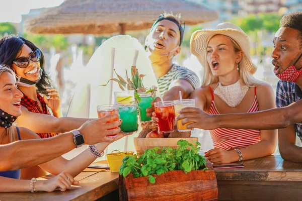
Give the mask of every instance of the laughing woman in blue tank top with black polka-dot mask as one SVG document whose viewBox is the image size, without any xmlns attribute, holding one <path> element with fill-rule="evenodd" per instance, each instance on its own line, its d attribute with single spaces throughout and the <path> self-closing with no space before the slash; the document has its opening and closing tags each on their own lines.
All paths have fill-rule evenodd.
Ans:
<svg viewBox="0 0 302 201">
<path fill-rule="evenodd" d="M 34 62 L 30 60 L 29 67 L 32 65 L 34 65 Z M 13 125 L 16 119 L 22 114 L 20 102 L 23 94 L 16 86 L 14 72 L 10 68 L 0 65 L 0 146 L 9 143 L 18 143 L 19 140 L 39 139 L 39 136 L 32 131 Z M 124 135 L 119 134 L 116 140 L 122 136 Z M 44 164 L 40 164 L 39 166 L 45 171 L 57 175 L 49 180 L 37 180 L 36 178 L 32 178 L 31 180 L 19 179 L 20 169 L 2 171 L 0 172 L 0 192 L 51 192 L 56 188 L 64 191 L 72 184 L 79 184 L 73 177 L 81 173 L 96 157 L 103 156 L 103 151 L 109 144 L 104 142 L 91 145 L 71 160 L 66 160 L 60 156 Z M 28 153 L 28 157 L 31 157 L 31 153 Z"/>
</svg>

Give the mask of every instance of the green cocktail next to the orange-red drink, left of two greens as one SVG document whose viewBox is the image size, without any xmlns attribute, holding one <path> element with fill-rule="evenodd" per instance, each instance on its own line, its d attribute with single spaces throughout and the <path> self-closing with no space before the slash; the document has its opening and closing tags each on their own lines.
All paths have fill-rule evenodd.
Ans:
<svg viewBox="0 0 302 201">
<path fill-rule="evenodd" d="M 122 120 L 121 131 L 131 133 L 137 131 L 137 105 L 136 102 L 119 105 L 119 115 Z"/>
</svg>

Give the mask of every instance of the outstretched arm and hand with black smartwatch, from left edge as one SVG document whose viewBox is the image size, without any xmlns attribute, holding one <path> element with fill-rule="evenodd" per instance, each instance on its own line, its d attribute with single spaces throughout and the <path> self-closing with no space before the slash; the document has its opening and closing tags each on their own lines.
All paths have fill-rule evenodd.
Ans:
<svg viewBox="0 0 302 201">
<path fill-rule="evenodd" d="M 121 122 L 109 122 L 118 115 L 109 115 L 104 118 L 86 122 L 79 128 L 84 135 L 85 144 L 97 144 L 100 142 L 113 142 L 114 139 L 107 135 L 119 133 Z M 32 167 L 50 161 L 75 148 L 72 133 L 61 134 L 47 139 L 21 140 L 0 146 L 0 171 L 17 170 Z M 36 151 L 39 150 L 39 151 Z"/>
</svg>

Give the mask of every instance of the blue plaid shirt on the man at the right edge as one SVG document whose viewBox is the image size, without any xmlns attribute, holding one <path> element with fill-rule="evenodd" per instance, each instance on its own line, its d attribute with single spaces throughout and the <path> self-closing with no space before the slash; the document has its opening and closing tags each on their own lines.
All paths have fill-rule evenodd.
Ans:
<svg viewBox="0 0 302 201">
<path fill-rule="evenodd" d="M 276 106 L 282 108 L 302 98 L 302 91 L 294 82 L 279 80 L 276 90 Z M 302 122 L 294 125 L 297 136 L 302 141 Z"/>
</svg>

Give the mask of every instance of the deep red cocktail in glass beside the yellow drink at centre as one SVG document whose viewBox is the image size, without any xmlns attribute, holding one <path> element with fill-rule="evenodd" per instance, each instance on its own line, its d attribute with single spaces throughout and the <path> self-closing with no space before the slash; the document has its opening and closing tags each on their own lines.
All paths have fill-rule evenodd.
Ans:
<svg viewBox="0 0 302 201">
<path fill-rule="evenodd" d="M 155 102 L 155 114 L 159 119 L 159 132 L 169 133 L 174 130 L 174 103 L 173 101 Z"/>
</svg>

